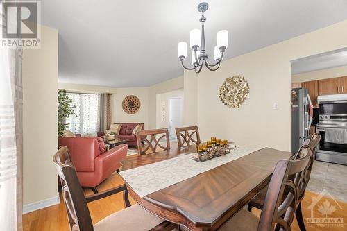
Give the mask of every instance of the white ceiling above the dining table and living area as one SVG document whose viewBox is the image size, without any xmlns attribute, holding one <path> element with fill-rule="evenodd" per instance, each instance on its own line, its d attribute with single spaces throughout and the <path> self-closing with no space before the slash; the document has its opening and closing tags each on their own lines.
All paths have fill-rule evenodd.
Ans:
<svg viewBox="0 0 347 231">
<path fill-rule="evenodd" d="M 139 87 L 183 74 L 177 43 L 199 28 L 187 0 L 45 0 L 42 24 L 59 30 L 59 80 Z M 347 19 L 346 0 L 210 0 L 205 13 L 210 57 L 216 33 L 229 31 L 226 58 Z M 187 58 L 187 61 L 190 57 Z"/>
</svg>

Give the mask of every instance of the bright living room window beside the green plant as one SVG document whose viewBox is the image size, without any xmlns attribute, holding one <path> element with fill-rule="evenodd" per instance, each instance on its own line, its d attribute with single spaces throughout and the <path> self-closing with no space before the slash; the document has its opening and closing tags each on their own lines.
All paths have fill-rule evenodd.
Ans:
<svg viewBox="0 0 347 231">
<path fill-rule="evenodd" d="M 69 130 L 81 135 L 96 135 L 99 132 L 99 94 L 69 93 L 76 103 L 75 115 L 67 119 Z"/>
</svg>

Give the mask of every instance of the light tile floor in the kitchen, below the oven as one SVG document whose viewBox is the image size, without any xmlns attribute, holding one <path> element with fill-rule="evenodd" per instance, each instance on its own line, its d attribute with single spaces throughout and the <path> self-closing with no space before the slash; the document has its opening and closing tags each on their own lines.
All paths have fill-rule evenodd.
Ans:
<svg viewBox="0 0 347 231">
<path fill-rule="evenodd" d="M 333 198 L 347 202 L 347 166 L 314 161 L 307 190 L 320 194 L 323 189 Z"/>
</svg>

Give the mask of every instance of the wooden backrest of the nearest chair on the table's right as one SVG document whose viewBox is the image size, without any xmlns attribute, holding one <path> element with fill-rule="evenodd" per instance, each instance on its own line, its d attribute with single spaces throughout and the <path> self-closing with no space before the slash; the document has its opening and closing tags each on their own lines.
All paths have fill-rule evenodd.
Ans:
<svg viewBox="0 0 347 231">
<path fill-rule="evenodd" d="M 311 150 L 301 146 L 298 158 L 280 160 L 269 184 L 260 215 L 258 231 L 290 230 L 305 169 L 310 165 Z"/>
</svg>

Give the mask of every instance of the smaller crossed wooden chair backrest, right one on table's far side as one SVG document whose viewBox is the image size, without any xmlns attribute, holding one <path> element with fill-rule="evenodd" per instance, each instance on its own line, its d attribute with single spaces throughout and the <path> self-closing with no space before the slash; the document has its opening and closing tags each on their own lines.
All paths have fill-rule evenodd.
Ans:
<svg viewBox="0 0 347 231">
<path fill-rule="evenodd" d="M 176 128 L 176 136 L 178 141 L 178 148 L 185 145 L 189 146 L 191 145 L 191 143 L 200 144 L 200 135 L 198 134 L 198 126 Z"/>
</svg>

